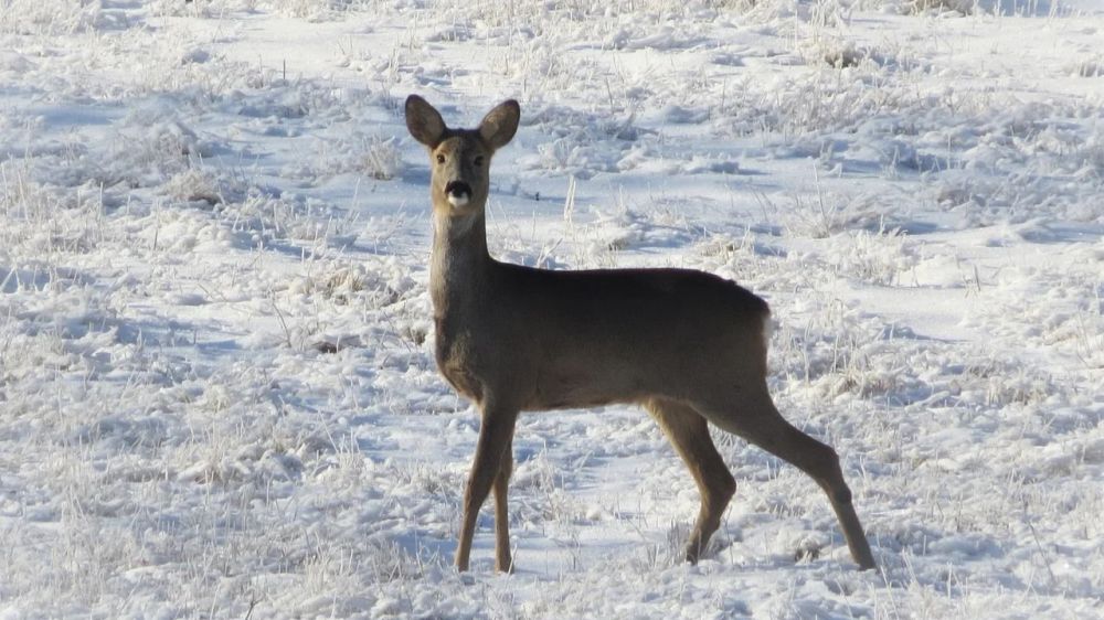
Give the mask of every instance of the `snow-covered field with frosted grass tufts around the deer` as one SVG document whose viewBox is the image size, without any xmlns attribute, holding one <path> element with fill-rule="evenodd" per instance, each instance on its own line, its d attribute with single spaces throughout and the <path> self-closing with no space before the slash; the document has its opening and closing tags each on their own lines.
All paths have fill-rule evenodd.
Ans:
<svg viewBox="0 0 1104 620">
<path fill-rule="evenodd" d="M 493 571 L 402 103 L 508 97 L 489 237 L 735 279 L 793 467 L 522 416 Z M 0 0 L 0 618 L 1104 617 L 1104 2 Z"/>
</svg>

